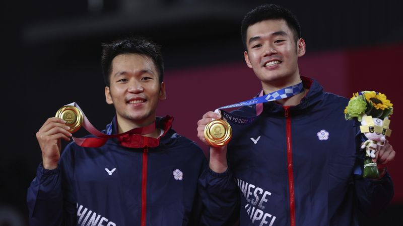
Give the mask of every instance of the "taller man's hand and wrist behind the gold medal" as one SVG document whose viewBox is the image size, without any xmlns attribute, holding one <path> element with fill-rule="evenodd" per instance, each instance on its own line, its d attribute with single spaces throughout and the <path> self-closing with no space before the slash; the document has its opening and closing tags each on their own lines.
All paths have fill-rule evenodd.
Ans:
<svg viewBox="0 0 403 226">
<path fill-rule="evenodd" d="M 197 122 L 197 137 L 203 143 L 209 145 L 205 138 L 205 128 L 212 120 L 221 119 L 221 115 L 213 111 L 209 111 L 203 115 L 203 118 Z M 210 147 L 210 169 L 216 173 L 225 172 L 227 165 L 227 145 L 222 147 Z"/>
</svg>

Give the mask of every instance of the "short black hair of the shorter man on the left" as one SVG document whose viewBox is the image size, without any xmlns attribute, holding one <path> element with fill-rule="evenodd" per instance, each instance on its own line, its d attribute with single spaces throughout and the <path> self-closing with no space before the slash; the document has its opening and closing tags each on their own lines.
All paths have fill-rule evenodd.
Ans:
<svg viewBox="0 0 403 226">
<path fill-rule="evenodd" d="M 158 71 L 159 82 L 164 79 L 164 60 L 161 54 L 161 46 L 143 38 L 130 36 L 121 40 L 114 41 L 110 44 L 102 44 L 102 74 L 105 85 L 110 85 L 110 73 L 112 72 L 112 60 L 117 55 L 134 53 L 145 55 L 153 60 L 153 63 Z"/>
</svg>

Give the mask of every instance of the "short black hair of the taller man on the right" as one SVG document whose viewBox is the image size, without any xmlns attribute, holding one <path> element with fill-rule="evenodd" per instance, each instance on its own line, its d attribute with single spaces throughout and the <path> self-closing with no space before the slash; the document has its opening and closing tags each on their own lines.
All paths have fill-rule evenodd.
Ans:
<svg viewBox="0 0 403 226">
<path fill-rule="evenodd" d="M 297 42 L 297 40 L 301 38 L 301 27 L 299 25 L 297 17 L 291 11 L 284 7 L 274 4 L 267 4 L 258 6 L 255 9 L 249 11 L 242 20 L 241 36 L 245 50 L 247 50 L 246 31 L 248 30 L 249 26 L 265 20 L 281 19 L 285 20 L 288 27 L 294 32 L 294 39 L 295 42 Z"/>
</svg>

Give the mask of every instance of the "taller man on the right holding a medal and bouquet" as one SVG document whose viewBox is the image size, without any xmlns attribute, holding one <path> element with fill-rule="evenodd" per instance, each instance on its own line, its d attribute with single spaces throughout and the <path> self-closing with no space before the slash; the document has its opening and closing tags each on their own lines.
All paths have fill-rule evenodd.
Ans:
<svg viewBox="0 0 403 226">
<path fill-rule="evenodd" d="M 345 120 L 348 99 L 300 76 L 305 41 L 290 11 L 257 7 L 241 33 L 246 64 L 262 90 L 220 108 L 241 106 L 233 112 L 209 111 L 197 122 L 199 139 L 210 145 L 210 168 L 233 173 L 240 225 L 346 226 L 375 216 L 393 197 L 386 170 L 393 148 L 378 146 L 379 177 L 362 177 L 364 140 L 359 126 Z M 217 121 L 222 117 L 229 125 Z"/>
</svg>

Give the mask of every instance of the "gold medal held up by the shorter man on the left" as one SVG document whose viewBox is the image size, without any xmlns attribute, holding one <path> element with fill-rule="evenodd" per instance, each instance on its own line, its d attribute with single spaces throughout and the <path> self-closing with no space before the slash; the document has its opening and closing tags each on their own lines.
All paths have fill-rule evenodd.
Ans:
<svg viewBox="0 0 403 226">
<path fill-rule="evenodd" d="M 66 105 L 60 107 L 56 112 L 56 117 L 66 122 L 66 126 L 70 127 L 70 133 L 78 131 L 83 124 L 83 114 L 75 106 Z"/>
</svg>

